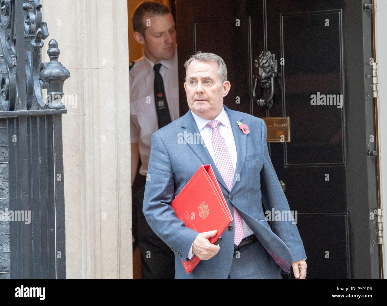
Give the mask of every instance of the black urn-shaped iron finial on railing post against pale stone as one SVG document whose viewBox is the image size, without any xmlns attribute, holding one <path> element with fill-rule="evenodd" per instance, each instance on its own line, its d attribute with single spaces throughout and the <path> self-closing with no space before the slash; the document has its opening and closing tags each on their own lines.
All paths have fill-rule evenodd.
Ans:
<svg viewBox="0 0 387 306">
<path fill-rule="evenodd" d="M 55 39 L 48 43 L 48 56 L 50 62 L 47 65 L 41 65 L 40 78 L 47 84 L 48 109 L 63 109 L 65 105 L 61 103 L 63 93 L 63 83 L 70 77 L 70 72 L 58 61 L 60 50 Z"/>
</svg>

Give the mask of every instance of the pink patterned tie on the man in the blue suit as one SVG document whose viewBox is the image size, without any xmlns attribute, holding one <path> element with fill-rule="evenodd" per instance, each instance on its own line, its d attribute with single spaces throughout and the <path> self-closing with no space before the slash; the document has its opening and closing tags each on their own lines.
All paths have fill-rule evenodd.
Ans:
<svg viewBox="0 0 387 306">
<path fill-rule="evenodd" d="M 212 148 L 214 149 L 216 168 L 226 183 L 228 190 L 231 191 L 234 180 L 234 167 L 228 153 L 226 141 L 224 141 L 224 138 L 219 133 L 219 125 L 220 121 L 217 120 L 211 120 L 207 123 L 207 126 L 212 129 Z M 235 207 L 233 208 L 235 226 L 234 243 L 239 245 L 244 236 L 243 223 L 240 214 L 236 211 Z"/>
</svg>

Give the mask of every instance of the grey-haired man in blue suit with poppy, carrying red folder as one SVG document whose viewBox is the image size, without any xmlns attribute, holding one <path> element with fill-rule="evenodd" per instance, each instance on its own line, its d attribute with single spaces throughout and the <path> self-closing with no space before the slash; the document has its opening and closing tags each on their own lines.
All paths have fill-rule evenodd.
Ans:
<svg viewBox="0 0 387 306">
<path fill-rule="evenodd" d="M 281 279 L 290 266 L 304 279 L 307 257 L 294 219 L 269 225 L 262 209 L 263 202 L 267 211 L 290 211 L 264 121 L 223 105 L 231 85 L 221 57 L 198 52 L 185 68 L 190 110 L 152 134 L 143 207 L 149 226 L 175 253 L 175 279 Z M 170 206 L 202 164 L 211 164 L 234 219 L 219 245 L 208 240 L 216 230 L 187 228 Z M 201 260 L 187 274 L 180 259 L 194 254 Z"/>
</svg>

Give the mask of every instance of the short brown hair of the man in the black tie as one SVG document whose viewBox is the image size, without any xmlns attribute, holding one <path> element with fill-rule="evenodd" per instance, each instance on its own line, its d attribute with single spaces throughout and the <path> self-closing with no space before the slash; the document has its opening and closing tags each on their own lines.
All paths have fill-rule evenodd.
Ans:
<svg viewBox="0 0 387 306">
<path fill-rule="evenodd" d="M 164 16 L 169 14 L 171 10 L 166 7 L 164 4 L 154 2 L 154 1 L 144 1 L 137 5 L 133 15 L 132 15 L 132 24 L 133 30 L 139 32 L 145 38 L 146 26 L 142 22 L 142 17 L 144 15 L 149 16 Z"/>
</svg>

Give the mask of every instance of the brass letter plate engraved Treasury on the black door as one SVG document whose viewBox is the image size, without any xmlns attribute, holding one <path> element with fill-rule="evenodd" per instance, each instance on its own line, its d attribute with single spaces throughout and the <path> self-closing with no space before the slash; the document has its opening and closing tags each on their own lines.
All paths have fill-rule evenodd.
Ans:
<svg viewBox="0 0 387 306">
<path fill-rule="evenodd" d="M 289 117 L 265 117 L 261 119 L 266 123 L 267 143 L 290 142 Z"/>
</svg>

